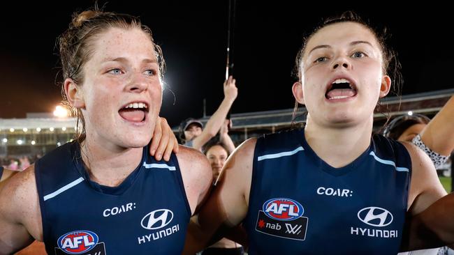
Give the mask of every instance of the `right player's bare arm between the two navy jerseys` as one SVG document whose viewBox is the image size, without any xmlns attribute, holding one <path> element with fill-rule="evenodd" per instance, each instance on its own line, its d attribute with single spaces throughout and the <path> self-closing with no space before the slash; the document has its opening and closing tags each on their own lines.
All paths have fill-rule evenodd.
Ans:
<svg viewBox="0 0 454 255">
<path fill-rule="evenodd" d="M 256 139 L 249 139 L 228 157 L 217 186 L 200 210 L 198 223 L 189 226 L 183 254 L 216 242 L 246 217 L 255 145 Z"/>
</svg>

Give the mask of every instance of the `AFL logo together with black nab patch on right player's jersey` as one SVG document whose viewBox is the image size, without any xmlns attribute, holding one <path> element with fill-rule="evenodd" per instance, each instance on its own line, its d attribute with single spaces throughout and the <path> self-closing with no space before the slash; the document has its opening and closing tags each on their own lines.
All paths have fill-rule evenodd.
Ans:
<svg viewBox="0 0 454 255">
<path fill-rule="evenodd" d="M 293 199 L 270 199 L 258 211 L 256 231 L 279 238 L 305 240 L 307 217 L 304 208 Z"/>
</svg>

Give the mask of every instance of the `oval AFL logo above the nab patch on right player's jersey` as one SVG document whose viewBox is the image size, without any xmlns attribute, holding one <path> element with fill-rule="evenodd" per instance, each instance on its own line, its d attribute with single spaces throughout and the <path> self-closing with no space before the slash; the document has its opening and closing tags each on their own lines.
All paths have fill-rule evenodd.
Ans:
<svg viewBox="0 0 454 255">
<path fill-rule="evenodd" d="M 263 203 L 263 212 L 272 219 L 289 221 L 301 217 L 305 210 L 293 199 L 270 199 Z"/>
</svg>

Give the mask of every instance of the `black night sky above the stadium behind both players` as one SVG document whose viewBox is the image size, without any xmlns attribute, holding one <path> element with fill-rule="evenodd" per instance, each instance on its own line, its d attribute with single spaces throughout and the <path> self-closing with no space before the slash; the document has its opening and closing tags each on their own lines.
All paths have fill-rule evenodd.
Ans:
<svg viewBox="0 0 454 255">
<path fill-rule="evenodd" d="M 239 95 L 232 113 L 292 108 L 292 70 L 302 37 L 323 17 L 344 10 L 355 10 L 372 24 L 387 27 L 402 63 L 402 94 L 454 87 L 454 22 L 447 3 L 404 3 L 407 6 L 398 8 L 396 1 L 236 2 L 233 72 Z M 93 1 L 11 4 L 2 6 L 0 17 L 0 118 L 53 111 L 61 101 L 55 40 L 71 21 L 71 13 L 93 6 Z M 207 114 L 214 112 L 224 97 L 228 0 L 110 1 L 105 10 L 140 16 L 163 48 L 167 89 L 161 116 L 171 125 L 200 117 L 203 98 Z"/>
</svg>

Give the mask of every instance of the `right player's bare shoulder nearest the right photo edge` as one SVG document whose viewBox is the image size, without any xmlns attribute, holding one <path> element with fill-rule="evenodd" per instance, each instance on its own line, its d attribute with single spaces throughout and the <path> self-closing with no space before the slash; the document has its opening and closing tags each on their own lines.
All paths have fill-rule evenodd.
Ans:
<svg viewBox="0 0 454 255">
<path fill-rule="evenodd" d="M 409 191 L 409 211 L 417 214 L 434 201 L 446 195 L 430 157 L 414 144 L 402 142 L 411 157 L 411 185 Z"/>
</svg>

